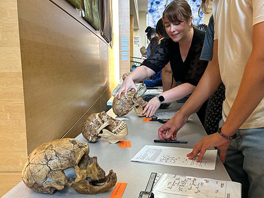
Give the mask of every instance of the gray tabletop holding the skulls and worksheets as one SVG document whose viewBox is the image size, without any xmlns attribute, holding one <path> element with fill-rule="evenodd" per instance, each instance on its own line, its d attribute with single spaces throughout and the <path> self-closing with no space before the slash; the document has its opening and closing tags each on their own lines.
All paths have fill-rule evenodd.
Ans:
<svg viewBox="0 0 264 198">
<path fill-rule="evenodd" d="M 179 110 L 181 105 L 181 103 L 172 103 L 168 109 L 158 109 L 157 112 L 176 112 Z M 109 113 L 111 115 L 111 111 L 109 111 Z M 112 169 L 117 175 L 117 182 L 127 183 L 127 187 L 122 198 L 138 198 L 140 191 L 145 190 L 152 172 L 228 181 L 231 180 L 219 157 L 217 157 L 215 170 L 203 170 L 130 161 L 145 145 L 193 148 L 193 146 L 202 137 L 206 136 L 206 133 L 196 114 L 190 116 L 187 123 L 177 134 L 177 139 L 186 140 L 189 142 L 187 144 L 154 143 L 153 140 L 158 139 L 157 129 L 162 126 L 161 123 L 157 121 L 142 121 L 144 118 L 137 117 L 133 110 L 126 118 L 128 118 L 125 122 L 128 125 L 129 134 L 122 140 L 131 141 L 131 148 L 119 148 L 118 143 L 110 144 L 105 139 L 100 139 L 96 143 L 89 143 L 89 156 L 98 157 L 98 164 L 104 169 L 106 174 L 108 174 L 110 169 Z M 87 142 L 87 140 L 83 138 L 82 134 L 77 136 L 76 139 L 81 142 Z M 34 192 L 27 188 L 21 181 L 2 198 L 110 198 L 113 189 L 114 187 L 97 195 L 84 195 L 75 192 L 72 188 L 66 187 L 61 191 L 55 191 L 54 194 L 49 195 Z"/>
</svg>

